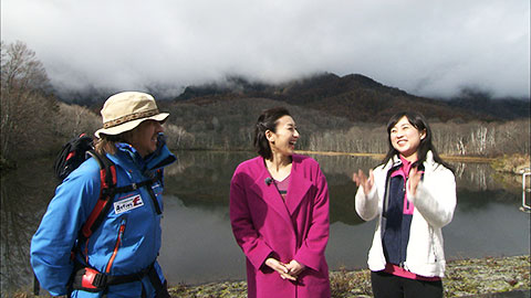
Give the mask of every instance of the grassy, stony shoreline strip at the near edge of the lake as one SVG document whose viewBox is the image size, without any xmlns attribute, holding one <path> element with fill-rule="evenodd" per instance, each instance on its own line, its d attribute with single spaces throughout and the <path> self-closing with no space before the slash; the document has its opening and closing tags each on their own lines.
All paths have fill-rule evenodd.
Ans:
<svg viewBox="0 0 531 298">
<path fill-rule="evenodd" d="M 449 260 L 442 278 L 445 297 L 479 297 L 512 291 L 530 291 L 531 256 L 485 257 Z M 368 269 L 330 272 L 333 298 L 372 297 Z M 197 286 L 177 285 L 169 289 L 180 298 L 244 298 L 247 283 L 220 281 Z M 487 296 L 488 297 L 488 296 Z"/>
</svg>

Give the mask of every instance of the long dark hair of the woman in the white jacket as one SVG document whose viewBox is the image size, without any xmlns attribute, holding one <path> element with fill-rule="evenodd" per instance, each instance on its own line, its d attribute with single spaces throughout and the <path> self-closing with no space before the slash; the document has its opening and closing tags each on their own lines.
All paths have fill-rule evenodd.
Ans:
<svg viewBox="0 0 531 298">
<path fill-rule="evenodd" d="M 431 151 L 431 153 L 434 155 L 434 160 L 436 162 L 445 166 L 450 171 L 454 171 L 454 169 L 448 163 L 442 161 L 442 159 L 437 153 L 437 150 L 435 150 L 435 147 L 431 142 L 431 128 L 429 128 L 428 121 L 426 121 L 426 118 L 423 114 L 416 111 L 400 111 L 391 117 L 389 121 L 387 123 L 387 142 L 389 146 L 389 150 L 387 151 L 387 155 L 384 157 L 382 162 L 385 164 L 389 161 L 391 158 L 393 158 L 393 156 L 399 153 L 391 142 L 391 130 L 402 119 L 402 117 L 406 117 L 409 124 L 412 124 L 418 131 L 426 131 L 426 136 L 424 137 L 424 139 L 420 140 L 420 143 L 418 145 L 417 161 L 414 163 L 414 166 L 419 166 L 424 161 L 426 161 L 426 155 L 428 153 L 428 151 Z"/>
</svg>

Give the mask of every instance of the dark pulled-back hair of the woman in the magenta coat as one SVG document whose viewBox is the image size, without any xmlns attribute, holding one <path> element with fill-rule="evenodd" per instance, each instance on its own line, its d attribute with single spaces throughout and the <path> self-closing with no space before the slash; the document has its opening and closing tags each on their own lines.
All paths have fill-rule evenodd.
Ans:
<svg viewBox="0 0 531 298">
<path fill-rule="evenodd" d="M 260 117 L 258 117 L 257 125 L 254 126 L 253 143 L 258 153 L 264 159 L 271 159 L 273 157 L 268 138 L 266 138 L 266 131 L 271 130 L 272 132 L 277 132 L 277 121 L 283 116 L 291 116 L 291 114 L 284 107 L 274 107 L 263 110 Z"/>
</svg>

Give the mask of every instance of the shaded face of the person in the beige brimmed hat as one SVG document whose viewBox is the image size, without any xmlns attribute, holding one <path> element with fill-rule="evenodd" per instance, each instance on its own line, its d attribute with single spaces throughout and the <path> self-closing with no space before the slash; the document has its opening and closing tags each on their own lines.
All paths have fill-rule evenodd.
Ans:
<svg viewBox="0 0 531 298">
<path fill-rule="evenodd" d="M 142 157 L 146 157 L 157 149 L 157 137 L 159 132 L 164 132 L 164 128 L 159 121 L 145 120 L 132 131 L 128 142 Z"/>
</svg>

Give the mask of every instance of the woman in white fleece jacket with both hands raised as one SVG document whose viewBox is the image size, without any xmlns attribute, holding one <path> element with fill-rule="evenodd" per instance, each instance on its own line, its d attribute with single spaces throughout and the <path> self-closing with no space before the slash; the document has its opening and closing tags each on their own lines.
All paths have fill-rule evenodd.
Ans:
<svg viewBox="0 0 531 298">
<path fill-rule="evenodd" d="M 368 178 L 353 174 L 357 214 L 378 219 L 368 252 L 374 297 L 442 297 L 441 227 L 457 203 L 454 172 L 437 155 L 423 115 L 394 115 L 387 134 L 382 164 Z"/>
</svg>

